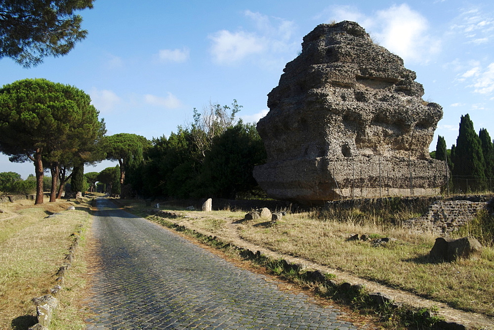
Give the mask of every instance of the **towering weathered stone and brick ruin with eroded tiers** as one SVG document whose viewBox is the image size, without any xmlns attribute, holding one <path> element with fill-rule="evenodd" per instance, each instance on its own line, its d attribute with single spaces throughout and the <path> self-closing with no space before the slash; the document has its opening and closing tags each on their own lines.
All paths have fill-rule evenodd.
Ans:
<svg viewBox="0 0 494 330">
<path fill-rule="evenodd" d="M 428 147 L 443 111 L 415 78 L 357 23 L 317 26 L 268 94 L 255 179 L 303 204 L 439 192 L 446 167 Z"/>
</svg>

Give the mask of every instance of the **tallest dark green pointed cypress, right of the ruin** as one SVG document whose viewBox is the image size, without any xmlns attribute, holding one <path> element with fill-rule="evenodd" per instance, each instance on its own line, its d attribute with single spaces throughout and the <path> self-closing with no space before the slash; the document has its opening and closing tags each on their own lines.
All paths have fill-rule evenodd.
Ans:
<svg viewBox="0 0 494 330">
<path fill-rule="evenodd" d="M 461 116 L 453 159 L 454 184 L 461 191 L 485 188 L 485 161 L 479 135 L 470 116 Z"/>
</svg>

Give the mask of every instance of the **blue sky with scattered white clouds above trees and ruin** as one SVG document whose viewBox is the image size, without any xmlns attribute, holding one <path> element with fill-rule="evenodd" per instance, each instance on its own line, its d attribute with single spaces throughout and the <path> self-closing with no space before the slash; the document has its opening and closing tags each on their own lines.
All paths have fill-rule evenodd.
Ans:
<svg viewBox="0 0 494 330">
<path fill-rule="evenodd" d="M 318 24 L 352 20 L 417 73 L 428 101 L 443 107 L 437 135 L 456 142 L 461 115 L 494 137 L 493 1 L 96 0 L 79 12 L 88 37 L 68 55 L 24 69 L 0 60 L 0 85 L 45 78 L 81 88 L 108 135 L 168 136 L 210 102 L 243 106 L 245 121 L 267 111 L 267 94 Z M 100 171 L 115 164 L 86 166 Z M 24 178 L 32 163 L 0 172 Z"/>
</svg>

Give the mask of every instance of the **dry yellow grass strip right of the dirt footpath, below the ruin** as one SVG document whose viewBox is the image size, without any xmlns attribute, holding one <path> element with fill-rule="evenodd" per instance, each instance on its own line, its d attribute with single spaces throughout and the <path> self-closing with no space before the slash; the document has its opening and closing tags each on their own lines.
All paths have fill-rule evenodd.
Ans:
<svg viewBox="0 0 494 330">
<path fill-rule="evenodd" d="M 239 225 L 242 238 L 270 249 L 301 256 L 359 277 L 443 301 L 453 307 L 494 315 L 494 250 L 478 261 L 433 262 L 428 253 L 437 236 L 354 221 L 321 221 L 308 214 L 288 215 L 274 226 L 265 220 Z M 373 247 L 348 241 L 351 234 L 397 241 Z"/>
</svg>

